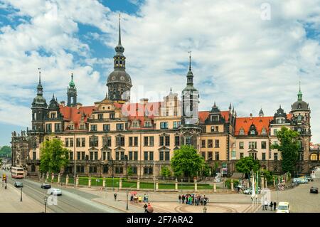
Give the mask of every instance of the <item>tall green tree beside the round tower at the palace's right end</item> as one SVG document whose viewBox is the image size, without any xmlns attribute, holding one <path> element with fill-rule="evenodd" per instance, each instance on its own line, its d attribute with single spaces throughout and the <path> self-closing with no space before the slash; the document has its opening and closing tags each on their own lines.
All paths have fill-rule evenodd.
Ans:
<svg viewBox="0 0 320 227">
<path fill-rule="evenodd" d="M 282 172 L 293 173 L 294 167 L 298 161 L 299 155 L 299 132 L 288 129 L 287 127 L 282 127 L 281 130 L 277 132 L 277 138 L 279 139 L 279 144 L 272 144 L 272 149 L 278 149 L 282 156 Z"/>
</svg>

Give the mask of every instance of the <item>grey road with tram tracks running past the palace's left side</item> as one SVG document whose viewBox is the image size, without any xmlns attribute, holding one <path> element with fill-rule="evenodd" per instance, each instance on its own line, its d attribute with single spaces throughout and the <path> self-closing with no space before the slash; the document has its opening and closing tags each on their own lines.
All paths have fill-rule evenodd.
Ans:
<svg viewBox="0 0 320 227">
<path fill-rule="evenodd" d="M 15 181 L 23 182 L 23 193 L 29 196 L 39 204 L 43 204 L 44 211 L 44 197 L 48 196 L 47 189 L 41 189 L 40 183 L 31 181 L 29 179 L 11 179 L 11 175 L 8 171 L 5 172 L 9 175 L 8 184 L 14 185 Z M 92 194 L 78 191 L 77 189 L 66 189 L 64 187 L 54 186 L 60 188 L 63 191 L 62 196 L 58 196 L 58 204 L 47 206 L 48 212 L 58 213 L 119 213 L 122 212 L 117 208 L 111 208 L 110 206 L 98 204 L 92 199 L 96 198 Z"/>
</svg>

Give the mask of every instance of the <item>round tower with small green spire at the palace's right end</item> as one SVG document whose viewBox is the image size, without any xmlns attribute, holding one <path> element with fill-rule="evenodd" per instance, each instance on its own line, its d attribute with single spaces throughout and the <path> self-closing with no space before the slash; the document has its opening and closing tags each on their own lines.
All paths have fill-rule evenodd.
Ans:
<svg viewBox="0 0 320 227">
<path fill-rule="evenodd" d="M 310 129 L 310 107 L 302 100 L 301 86 L 299 85 L 298 100 L 292 104 L 292 130 L 299 132 L 300 151 L 299 161 L 309 160 L 309 149 L 311 140 Z"/>
</svg>

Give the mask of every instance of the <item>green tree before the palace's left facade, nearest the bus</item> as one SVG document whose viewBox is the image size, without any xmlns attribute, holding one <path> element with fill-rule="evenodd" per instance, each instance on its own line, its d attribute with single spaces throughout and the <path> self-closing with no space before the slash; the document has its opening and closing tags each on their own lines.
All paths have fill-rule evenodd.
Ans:
<svg viewBox="0 0 320 227">
<path fill-rule="evenodd" d="M 43 142 L 41 147 L 41 172 L 59 173 L 61 167 L 68 165 L 68 149 L 63 147 L 63 142 L 60 139 L 50 139 Z"/>
</svg>

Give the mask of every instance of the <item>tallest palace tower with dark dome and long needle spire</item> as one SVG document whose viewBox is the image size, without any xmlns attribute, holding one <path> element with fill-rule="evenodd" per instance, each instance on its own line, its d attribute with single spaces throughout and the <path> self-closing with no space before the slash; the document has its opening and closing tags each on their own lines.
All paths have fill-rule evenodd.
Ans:
<svg viewBox="0 0 320 227">
<path fill-rule="evenodd" d="M 126 72 L 126 57 L 124 47 L 121 44 L 121 28 L 119 19 L 119 40 L 114 48 L 116 54 L 113 57 L 114 70 L 107 78 L 108 97 L 113 101 L 127 102 L 130 100 L 130 88 L 132 82 L 130 75 Z"/>
</svg>

